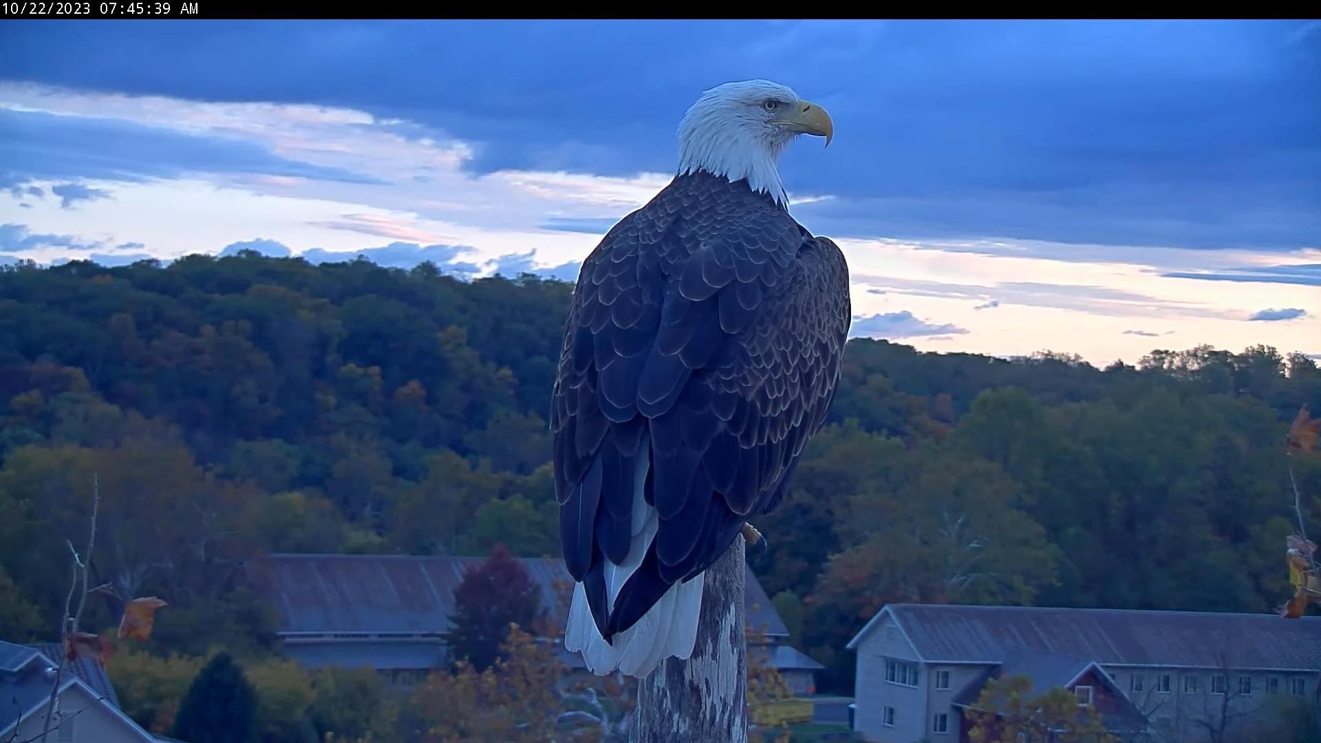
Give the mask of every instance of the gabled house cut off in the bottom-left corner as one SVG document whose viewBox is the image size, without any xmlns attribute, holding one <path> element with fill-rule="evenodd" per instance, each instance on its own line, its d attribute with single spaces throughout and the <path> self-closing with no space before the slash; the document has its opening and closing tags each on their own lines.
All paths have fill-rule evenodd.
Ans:
<svg viewBox="0 0 1321 743">
<path fill-rule="evenodd" d="M 59 645 L 38 648 L 0 641 L 0 740 L 40 738 L 45 727 L 58 666 L 50 653 Z M 119 711 L 104 669 L 87 658 L 70 664 L 61 674 L 52 731 L 50 740 L 59 743 L 160 740 Z"/>
</svg>

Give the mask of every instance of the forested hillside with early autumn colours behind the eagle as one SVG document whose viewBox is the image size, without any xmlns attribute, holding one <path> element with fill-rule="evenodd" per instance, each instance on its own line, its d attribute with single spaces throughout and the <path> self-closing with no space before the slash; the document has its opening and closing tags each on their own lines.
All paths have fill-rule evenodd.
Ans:
<svg viewBox="0 0 1321 743">
<path fill-rule="evenodd" d="M 263 551 L 557 554 L 546 416 L 571 288 L 256 254 L 0 270 L 5 639 L 53 636 L 94 473 L 92 582 L 169 602 L 157 650 L 267 646 L 244 587 Z M 1292 595 L 1284 436 L 1321 409 L 1308 357 L 1096 369 L 855 340 L 845 361 L 790 497 L 754 520 L 754 568 L 824 689 L 851 686 L 844 644 L 885 602 Z M 118 609 L 92 600 L 89 624 Z"/>
</svg>

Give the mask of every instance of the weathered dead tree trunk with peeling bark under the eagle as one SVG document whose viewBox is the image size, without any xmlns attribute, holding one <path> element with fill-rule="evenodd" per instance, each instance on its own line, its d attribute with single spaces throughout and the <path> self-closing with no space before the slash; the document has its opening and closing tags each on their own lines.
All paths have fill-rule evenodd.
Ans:
<svg viewBox="0 0 1321 743">
<path fill-rule="evenodd" d="M 746 743 L 744 570 L 740 534 L 707 570 L 692 657 L 666 658 L 651 676 L 638 681 L 630 740 Z"/>
</svg>

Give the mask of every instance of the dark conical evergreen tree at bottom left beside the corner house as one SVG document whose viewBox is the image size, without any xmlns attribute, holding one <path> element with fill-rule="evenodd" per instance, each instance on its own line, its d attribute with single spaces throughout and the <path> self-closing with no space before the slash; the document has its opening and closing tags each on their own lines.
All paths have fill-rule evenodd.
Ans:
<svg viewBox="0 0 1321 743">
<path fill-rule="evenodd" d="M 256 743 L 256 691 L 229 653 L 210 660 L 188 687 L 172 736 L 189 743 Z"/>
</svg>

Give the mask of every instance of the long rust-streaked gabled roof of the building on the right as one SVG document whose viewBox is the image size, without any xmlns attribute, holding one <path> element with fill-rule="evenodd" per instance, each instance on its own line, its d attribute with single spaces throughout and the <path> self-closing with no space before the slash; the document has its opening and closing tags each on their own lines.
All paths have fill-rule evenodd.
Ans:
<svg viewBox="0 0 1321 743">
<path fill-rule="evenodd" d="M 1321 617 L 1137 609 L 888 604 L 926 662 L 1001 664 L 1011 648 L 1102 665 L 1321 672 Z"/>
</svg>

